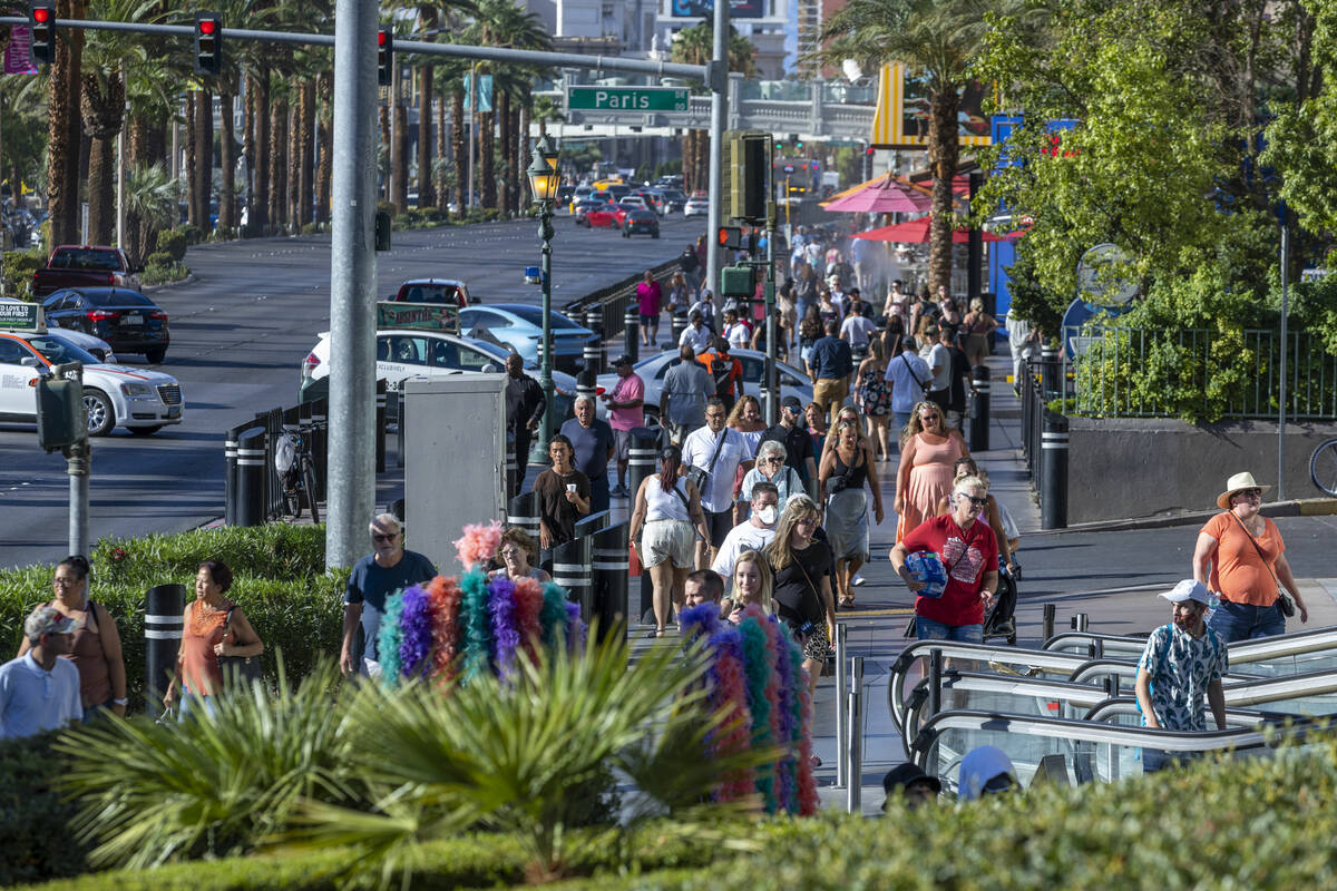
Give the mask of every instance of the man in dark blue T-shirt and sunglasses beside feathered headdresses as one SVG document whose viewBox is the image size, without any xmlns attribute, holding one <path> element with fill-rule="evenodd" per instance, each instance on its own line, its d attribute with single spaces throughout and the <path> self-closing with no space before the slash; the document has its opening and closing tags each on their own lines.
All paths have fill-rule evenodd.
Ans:
<svg viewBox="0 0 1337 891">
<path fill-rule="evenodd" d="M 368 676 L 377 667 L 376 635 L 381 629 L 385 598 L 401 588 L 436 577 L 436 566 L 425 556 L 404 549 L 404 534 L 393 513 L 372 520 L 372 553 L 353 565 L 344 592 L 344 649 L 340 668 L 345 675 Z M 354 639 L 361 624 L 366 644 L 361 656 L 354 653 Z"/>
</svg>

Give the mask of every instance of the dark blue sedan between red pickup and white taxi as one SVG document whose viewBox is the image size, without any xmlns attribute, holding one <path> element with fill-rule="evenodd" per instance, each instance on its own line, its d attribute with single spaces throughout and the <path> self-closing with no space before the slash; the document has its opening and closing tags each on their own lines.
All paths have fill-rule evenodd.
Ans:
<svg viewBox="0 0 1337 891">
<path fill-rule="evenodd" d="M 100 337 L 115 353 L 143 353 L 152 363 L 167 355 L 167 314 L 124 287 L 64 289 L 41 302 L 47 325 Z"/>
</svg>

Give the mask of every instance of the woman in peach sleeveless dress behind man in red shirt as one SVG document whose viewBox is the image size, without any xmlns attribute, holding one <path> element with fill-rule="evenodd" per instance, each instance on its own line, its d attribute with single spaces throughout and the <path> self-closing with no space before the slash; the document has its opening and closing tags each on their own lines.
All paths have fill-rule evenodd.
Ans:
<svg viewBox="0 0 1337 891">
<path fill-rule="evenodd" d="M 952 468 L 969 454 L 959 430 L 943 423 L 936 402 L 920 402 L 910 413 L 901 441 L 901 465 L 896 473 L 896 541 L 900 541 L 937 512 L 937 504 L 952 490 Z"/>
</svg>

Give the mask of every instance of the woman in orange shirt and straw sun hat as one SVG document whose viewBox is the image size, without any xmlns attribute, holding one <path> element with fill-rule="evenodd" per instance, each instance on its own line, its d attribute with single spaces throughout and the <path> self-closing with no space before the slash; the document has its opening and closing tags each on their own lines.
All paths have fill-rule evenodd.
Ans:
<svg viewBox="0 0 1337 891">
<path fill-rule="evenodd" d="M 1309 610 L 1286 562 L 1286 542 L 1267 517 L 1258 513 L 1262 493 L 1251 473 L 1237 473 L 1217 496 L 1218 513 L 1198 532 L 1193 552 L 1193 577 L 1221 597 L 1207 625 L 1227 644 L 1237 640 L 1284 635 L 1286 617 L 1277 605 L 1277 584 L 1285 585 L 1309 621 Z M 1207 568 L 1211 566 L 1209 576 Z"/>
</svg>

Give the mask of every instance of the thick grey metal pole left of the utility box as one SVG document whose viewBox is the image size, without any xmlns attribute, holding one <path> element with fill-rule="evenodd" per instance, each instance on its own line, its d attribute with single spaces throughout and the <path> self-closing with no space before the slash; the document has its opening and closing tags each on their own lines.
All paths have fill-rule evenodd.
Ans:
<svg viewBox="0 0 1337 891">
<path fill-rule="evenodd" d="M 366 550 L 376 508 L 374 3 L 336 0 L 330 214 L 330 472 L 326 568 Z"/>
</svg>

